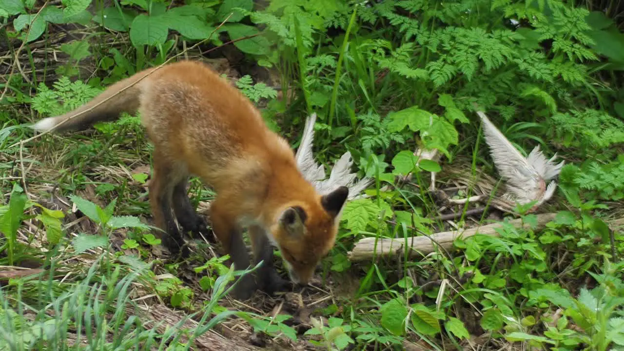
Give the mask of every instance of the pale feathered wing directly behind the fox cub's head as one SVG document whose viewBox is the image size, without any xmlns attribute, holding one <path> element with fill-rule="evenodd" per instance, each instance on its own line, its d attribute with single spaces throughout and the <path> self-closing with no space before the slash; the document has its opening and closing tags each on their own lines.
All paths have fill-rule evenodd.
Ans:
<svg viewBox="0 0 624 351">
<path fill-rule="evenodd" d="M 364 189 L 373 183 L 373 179 L 364 177 L 364 179 L 356 181 L 356 174 L 351 172 L 351 166 L 353 166 L 351 152 L 345 152 L 336 161 L 336 164 L 331 169 L 329 178 L 326 178 L 323 165 L 319 165 L 314 161 L 312 153 L 314 122 L 316 122 L 316 114 L 312 114 L 306 120 L 301 143 L 295 154 L 295 160 L 301 173 L 306 180 L 314 184 L 316 190 L 321 194 L 326 194 L 336 189 L 336 187 L 344 185 L 349 188 L 349 200 L 363 196 Z"/>
</svg>

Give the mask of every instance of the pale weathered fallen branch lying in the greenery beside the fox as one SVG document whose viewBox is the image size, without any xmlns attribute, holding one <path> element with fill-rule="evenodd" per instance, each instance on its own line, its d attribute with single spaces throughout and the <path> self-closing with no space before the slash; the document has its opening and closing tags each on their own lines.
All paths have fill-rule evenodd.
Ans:
<svg viewBox="0 0 624 351">
<path fill-rule="evenodd" d="M 555 219 L 553 213 L 537 215 L 537 229 L 542 229 L 551 220 Z M 514 227 L 522 226 L 522 219 L 513 219 L 509 224 Z M 467 238 L 476 234 L 498 236 L 497 228 L 502 227 L 503 223 L 493 223 L 482 225 L 481 227 L 469 228 L 466 230 L 452 230 L 450 232 L 440 232 L 431 236 L 417 236 L 407 239 L 388 239 L 374 237 L 364 238 L 356 242 L 353 250 L 347 254 L 349 260 L 358 262 L 372 259 L 375 255 L 379 257 L 402 257 L 404 254 L 404 244 L 409 245 L 409 257 L 417 255 L 426 255 L 436 251 L 437 245 L 444 249 L 451 249 L 453 242 L 458 237 Z"/>
</svg>

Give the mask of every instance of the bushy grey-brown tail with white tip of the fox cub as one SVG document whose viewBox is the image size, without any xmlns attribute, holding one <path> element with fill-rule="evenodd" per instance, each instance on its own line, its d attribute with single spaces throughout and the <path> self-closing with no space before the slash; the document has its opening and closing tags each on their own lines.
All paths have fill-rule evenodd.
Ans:
<svg viewBox="0 0 624 351">
<path fill-rule="evenodd" d="M 155 68 L 145 69 L 134 74 L 134 76 L 116 82 L 87 104 L 61 116 L 44 118 L 34 124 L 32 129 L 39 132 L 50 129 L 54 129 L 56 132 L 79 130 L 97 122 L 113 121 L 119 118 L 122 112 L 132 114 L 140 106 L 142 83 L 145 82 L 145 80 L 140 81 L 140 79 L 154 70 Z M 74 117 L 67 120 L 71 116 Z"/>
</svg>

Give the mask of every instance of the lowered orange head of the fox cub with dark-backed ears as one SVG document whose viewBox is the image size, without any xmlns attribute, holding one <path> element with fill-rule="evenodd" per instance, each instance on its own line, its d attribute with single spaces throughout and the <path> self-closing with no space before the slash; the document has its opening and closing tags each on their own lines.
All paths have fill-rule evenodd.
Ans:
<svg viewBox="0 0 624 351">
<path fill-rule="evenodd" d="M 295 284 L 308 284 L 318 262 L 334 246 L 348 195 L 348 187 L 338 187 L 314 203 L 290 204 L 279 214 L 271 231 Z"/>
</svg>

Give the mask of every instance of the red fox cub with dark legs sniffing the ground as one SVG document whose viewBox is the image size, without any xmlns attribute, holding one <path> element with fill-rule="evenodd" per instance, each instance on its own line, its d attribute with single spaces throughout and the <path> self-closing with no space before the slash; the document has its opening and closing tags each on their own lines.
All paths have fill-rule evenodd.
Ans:
<svg viewBox="0 0 624 351">
<path fill-rule="evenodd" d="M 173 214 L 185 232 L 205 229 L 186 192 L 188 176 L 194 174 L 217 192 L 210 206 L 212 229 L 235 268 L 250 265 L 243 227 L 251 236 L 255 264 L 264 260 L 256 280 L 248 274 L 236 284 L 236 298 L 247 299 L 256 289 L 273 294 L 288 285 L 273 267 L 271 243 L 280 249 L 291 281 L 307 284 L 334 245 L 349 190 L 318 194 L 298 170 L 288 142 L 205 64 L 182 61 L 146 69 L 33 128 L 84 129 L 136 111 L 154 144 L 149 199 L 156 225 L 167 234 L 163 244 L 174 253 L 188 252 Z M 84 113 L 62 122 L 77 112 Z"/>
</svg>

